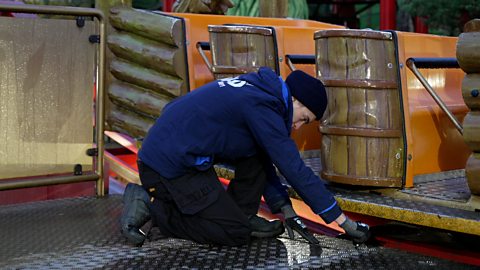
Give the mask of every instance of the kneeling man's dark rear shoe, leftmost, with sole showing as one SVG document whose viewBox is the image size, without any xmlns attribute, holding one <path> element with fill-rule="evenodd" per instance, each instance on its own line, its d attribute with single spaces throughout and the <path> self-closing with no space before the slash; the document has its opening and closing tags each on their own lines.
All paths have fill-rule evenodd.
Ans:
<svg viewBox="0 0 480 270">
<path fill-rule="evenodd" d="M 150 220 L 148 200 L 148 194 L 141 186 L 129 183 L 125 188 L 120 225 L 123 236 L 136 246 L 141 246 L 146 238 L 140 228 Z"/>
</svg>

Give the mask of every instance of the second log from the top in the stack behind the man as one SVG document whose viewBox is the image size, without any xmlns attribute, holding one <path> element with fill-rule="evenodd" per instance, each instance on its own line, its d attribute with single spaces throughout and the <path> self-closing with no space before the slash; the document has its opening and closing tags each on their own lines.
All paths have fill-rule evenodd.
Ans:
<svg viewBox="0 0 480 270">
<path fill-rule="evenodd" d="M 177 47 L 145 39 L 134 34 L 119 32 L 108 37 L 108 47 L 115 56 L 154 69 L 158 72 L 182 77 L 183 51 Z"/>
</svg>

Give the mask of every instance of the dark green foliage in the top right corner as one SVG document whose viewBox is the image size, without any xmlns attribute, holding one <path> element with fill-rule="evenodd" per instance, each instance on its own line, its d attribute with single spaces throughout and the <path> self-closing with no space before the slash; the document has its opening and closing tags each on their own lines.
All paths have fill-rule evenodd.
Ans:
<svg viewBox="0 0 480 270">
<path fill-rule="evenodd" d="M 410 15 L 425 18 L 433 34 L 458 36 L 467 21 L 480 18 L 480 0 L 397 0 L 397 3 Z"/>
</svg>

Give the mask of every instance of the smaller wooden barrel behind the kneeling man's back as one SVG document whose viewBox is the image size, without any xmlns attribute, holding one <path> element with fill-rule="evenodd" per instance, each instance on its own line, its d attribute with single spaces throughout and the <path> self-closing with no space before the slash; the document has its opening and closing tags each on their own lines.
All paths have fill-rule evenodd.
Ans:
<svg viewBox="0 0 480 270">
<path fill-rule="evenodd" d="M 257 71 L 262 66 L 278 73 L 278 53 L 271 28 L 210 25 L 212 72 L 215 79 Z"/>
</svg>

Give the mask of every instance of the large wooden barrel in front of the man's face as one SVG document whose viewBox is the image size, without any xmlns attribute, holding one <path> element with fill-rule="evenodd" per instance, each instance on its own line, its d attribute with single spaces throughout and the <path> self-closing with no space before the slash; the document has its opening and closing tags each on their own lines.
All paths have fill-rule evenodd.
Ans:
<svg viewBox="0 0 480 270">
<path fill-rule="evenodd" d="M 314 37 L 317 76 L 328 95 L 320 123 L 322 177 L 402 186 L 403 116 L 392 34 L 324 30 Z"/>
</svg>

